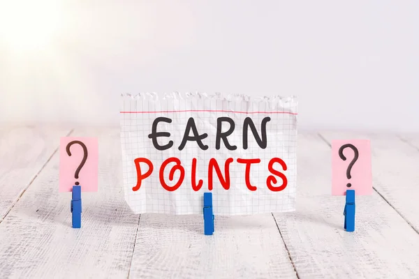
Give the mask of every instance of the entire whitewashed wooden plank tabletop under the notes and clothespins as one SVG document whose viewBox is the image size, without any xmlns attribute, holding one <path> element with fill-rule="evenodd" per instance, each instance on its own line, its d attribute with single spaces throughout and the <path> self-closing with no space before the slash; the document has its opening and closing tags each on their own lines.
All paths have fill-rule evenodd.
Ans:
<svg viewBox="0 0 419 279">
<path fill-rule="evenodd" d="M 59 137 L 99 139 L 99 191 L 58 193 Z M 330 195 L 330 141 L 372 140 L 374 193 Z M 0 278 L 419 278 L 419 135 L 302 133 L 297 211 L 217 217 L 135 215 L 124 200 L 119 128 L 0 128 Z"/>
</svg>

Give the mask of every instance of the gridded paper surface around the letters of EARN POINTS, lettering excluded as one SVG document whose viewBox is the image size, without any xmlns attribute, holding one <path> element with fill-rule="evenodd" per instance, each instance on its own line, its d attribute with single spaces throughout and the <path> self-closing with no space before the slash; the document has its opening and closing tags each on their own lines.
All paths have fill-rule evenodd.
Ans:
<svg viewBox="0 0 419 279">
<path fill-rule="evenodd" d="M 154 148 L 148 135 L 152 131 L 152 123 L 159 116 L 172 119 L 171 123 L 160 122 L 158 132 L 169 132 L 170 138 L 158 137 L 159 144 L 167 144 L 169 140 L 173 146 L 166 151 Z M 235 151 L 229 151 L 221 140 L 221 149 L 216 150 L 217 118 L 228 116 L 235 122 L 235 130 L 228 136 L 230 145 L 237 146 Z M 267 147 L 261 149 L 248 129 L 248 149 L 242 146 L 243 123 L 246 117 L 251 117 L 260 133 L 263 118 L 270 117 L 267 122 Z M 207 133 L 203 140 L 209 148 L 201 150 L 196 142 L 187 142 L 185 148 L 179 151 L 185 133 L 186 122 L 190 117 L 195 120 L 198 133 Z M 224 123 L 222 131 L 228 129 Z M 216 172 L 213 172 L 213 208 L 214 215 L 249 215 L 256 213 L 286 212 L 295 210 L 296 195 L 296 137 L 297 118 L 294 102 L 254 102 L 214 100 L 205 98 L 191 98 L 186 100 L 135 100 L 124 98 L 121 112 L 122 126 L 122 156 L 124 169 L 124 190 L 126 202 L 135 213 L 167 213 L 167 214 L 199 214 L 203 212 L 203 193 L 208 192 L 208 163 L 216 158 L 223 176 L 224 164 L 227 158 L 233 158 L 230 163 L 230 189 L 225 190 L 219 182 Z M 170 157 L 179 158 L 185 170 L 184 181 L 175 191 L 165 190 L 159 180 L 160 166 Z M 268 163 L 272 158 L 281 158 L 287 165 L 286 171 L 276 163 L 274 169 L 282 172 L 288 179 L 284 190 L 273 192 L 266 186 Z M 140 190 L 133 191 L 137 184 L 135 158 L 147 158 L 152 161 L 154 171 L 152 175 L 142 181 Z M 203 187 L 194 191 L 191 186 L 192 158 L 197 158 L 196 179 L 203 180 Z M 259 164 L 251 165 L 250 181 L 257 190 L 247 188 L 244 173 L 246 166 L 237 163 L 237 158 L 260 158 Z M 175 172 L 173 181 L 169 181 L 170 164 L 164 171 L 168 185 L 173 186 L 179 179 L 179 172 Z M 147 165 L 141 165 L 146 172 Z M 280 186 L 281 178 L 277 178 L 276 186 Z"/>
</svg>

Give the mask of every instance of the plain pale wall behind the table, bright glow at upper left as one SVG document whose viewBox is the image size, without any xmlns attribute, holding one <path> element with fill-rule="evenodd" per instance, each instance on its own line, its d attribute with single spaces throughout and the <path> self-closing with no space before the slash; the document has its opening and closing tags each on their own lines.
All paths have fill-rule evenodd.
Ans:
<svg viewBox="0 0 419 279">
<path fill-rule="evenodd" d="M 118 125 L 120 93 L 201 91 L 295 95 L 300 128 L 419 130 L 419 1 L 59 3 L 41 50 L 0 40 L 1 122 Z"/>
</svg>

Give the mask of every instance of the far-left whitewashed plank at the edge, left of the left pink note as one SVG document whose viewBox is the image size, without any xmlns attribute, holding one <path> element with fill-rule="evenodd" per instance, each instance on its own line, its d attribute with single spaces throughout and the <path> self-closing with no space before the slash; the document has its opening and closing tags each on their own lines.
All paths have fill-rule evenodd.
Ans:
<svg viewBox="0 0 419 279">
<path fill-rule="evenodd" d="M 69 128 L 10 127 L 0 130 L 0 222 L 59 146 Z"/>
</svg>

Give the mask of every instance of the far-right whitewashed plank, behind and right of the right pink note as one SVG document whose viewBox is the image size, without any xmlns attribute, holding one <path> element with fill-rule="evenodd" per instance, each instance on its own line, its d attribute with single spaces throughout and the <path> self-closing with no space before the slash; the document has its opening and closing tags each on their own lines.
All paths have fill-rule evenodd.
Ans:
<svg viewBox="0 0 419 279">
<path fill-rule="evenodd" d="M 330 142 L 342 139 L 368 139 L 372 148 L 373 186 L 419 234 L 419 137 L 374 133 L 321 133 Z M 409 139 L 408 139 L 409 138 Z"/>
</svg>

